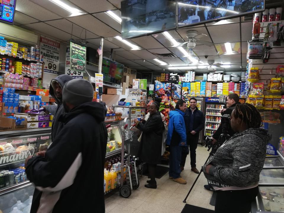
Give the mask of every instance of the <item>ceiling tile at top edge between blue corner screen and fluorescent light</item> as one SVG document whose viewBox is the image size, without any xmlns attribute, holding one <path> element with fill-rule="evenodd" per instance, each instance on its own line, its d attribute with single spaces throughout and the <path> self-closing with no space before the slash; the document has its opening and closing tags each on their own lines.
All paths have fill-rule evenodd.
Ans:
<svg viewBox="0 0 284 213">
<path fill-rule="evenodd" d="M 54 7 L 57 7 L 56 5 Z M 41 21 L 47 21 L 47 20 L 54 20 L 62 18 L 61 16 L 50 12 L 49 10 L 29 1 L 29 0 L 21 0 L 17 1 L 16 4 L 16 10 L 24 13 L 26 15 L 29 15 L 35 19 L 41 20 Z"/>
</svg>

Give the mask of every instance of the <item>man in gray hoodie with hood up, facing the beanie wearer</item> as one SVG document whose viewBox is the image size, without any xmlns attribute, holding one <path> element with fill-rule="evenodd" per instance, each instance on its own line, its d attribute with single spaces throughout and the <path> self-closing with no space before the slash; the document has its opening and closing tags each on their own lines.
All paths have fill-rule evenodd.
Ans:
<svg viewBox="0 0 284 213">
<path fill-rule="evenodd" d="M 47 105 L 43 106 L 47 112 L 54 115 L 52 123 L 51 137 L 55 138 L 56 134 L 62 129 L 63 123 L 58 122 L 60 115 L 64 114 L 64 107 L 62 104 L 62 88 L 64 85 L 72 80 L 73 78 L 70 75 L 59 75 L 56 78 L 52 79 L 49 87 L 49 94 L 55 99 L 56 105 Z"/>
</svg>

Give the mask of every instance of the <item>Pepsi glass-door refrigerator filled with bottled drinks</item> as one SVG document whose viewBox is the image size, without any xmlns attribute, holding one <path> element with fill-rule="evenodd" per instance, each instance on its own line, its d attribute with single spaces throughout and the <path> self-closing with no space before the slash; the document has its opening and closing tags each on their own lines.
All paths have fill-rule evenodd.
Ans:
<svg viewBox="0 0 284 213">
<path fill-rule="evenodd" d="M 225 108 L 225 103 L 220 102 L 218 97 L 205 98 L 205 127 L 204 136 L 211 137 L 221 123 L 221 109 Z"/>
</svg>

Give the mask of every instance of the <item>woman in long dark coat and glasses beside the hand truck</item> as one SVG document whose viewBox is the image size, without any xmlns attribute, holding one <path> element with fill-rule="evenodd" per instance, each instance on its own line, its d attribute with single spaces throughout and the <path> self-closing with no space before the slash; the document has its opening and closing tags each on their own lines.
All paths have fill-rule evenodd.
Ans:
<svg viewBox="0 0 284 213">
<path fill-rule="evenodd" d="M 160 163 L 162 152 L 162 133 L 164 124 L 160 112 L 158 111 L 160 103 L 154 101 L 149 105 L 148 111 L 150 117 L 148 120 L 139 122 L 134 119 L 136 127 L 142 131 L 141 143 L 138 156 L 143 162 L 147 163 L 149 176 L 151 180 L 147 180 L 145 187 L 157 188 L 155 180 L 156 165 Z"/>
</svg>

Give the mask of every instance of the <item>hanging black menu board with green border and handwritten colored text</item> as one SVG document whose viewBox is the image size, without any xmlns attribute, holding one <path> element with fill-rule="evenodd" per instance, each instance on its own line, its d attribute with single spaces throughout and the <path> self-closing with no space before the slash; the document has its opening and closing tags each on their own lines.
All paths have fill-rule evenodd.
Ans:
<svg viewBox="0 0 284 213">
<path fill-rule="evenodd" d="M 86 52 L 87 47 L 82 44 L 70 41 L 70 70 L 85 72 L 86 69 Z M 77 75 L 77 74 L 76 74 Z"/>
</svg>

